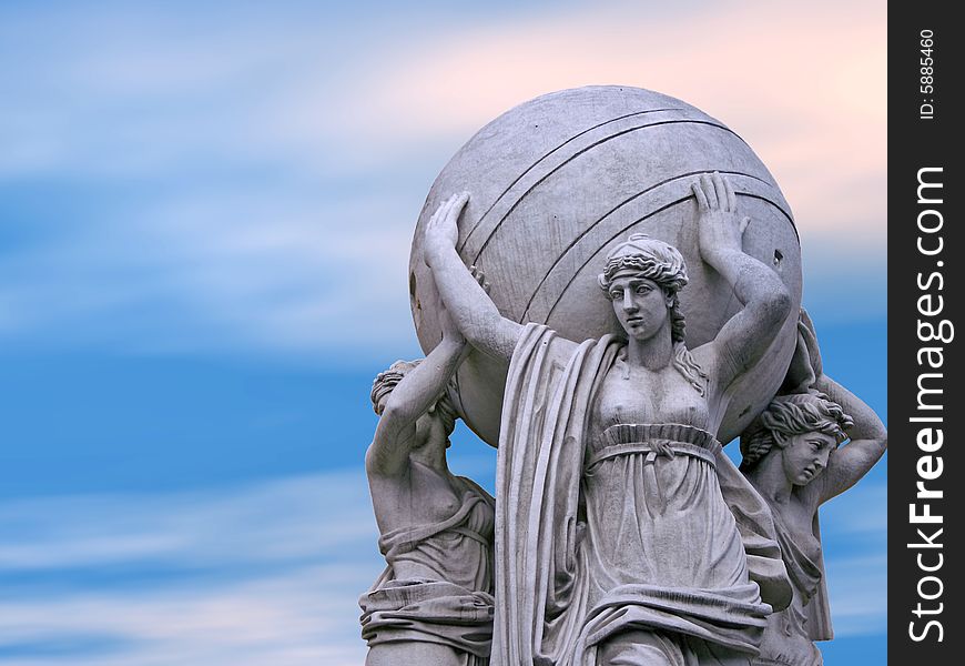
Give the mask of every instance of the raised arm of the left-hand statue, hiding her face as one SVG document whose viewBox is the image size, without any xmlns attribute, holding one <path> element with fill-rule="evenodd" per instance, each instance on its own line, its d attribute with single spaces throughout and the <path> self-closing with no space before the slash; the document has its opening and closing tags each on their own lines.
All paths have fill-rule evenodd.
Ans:
<svg viewBox="0 0 965 666">
<path fill-rule="evenodd" d="M 365 468 L 369 475 L 393 476 L 408 466 L 408 456 L 418 443 L 416 422 L 436 407 L 456 369 L 466 357 L 468 345 L 445 310 L 440 312 L 443 340 L 429 355 L 412 369 L 388 394 L 379 412 L 378 426 Z"/>
</svg>

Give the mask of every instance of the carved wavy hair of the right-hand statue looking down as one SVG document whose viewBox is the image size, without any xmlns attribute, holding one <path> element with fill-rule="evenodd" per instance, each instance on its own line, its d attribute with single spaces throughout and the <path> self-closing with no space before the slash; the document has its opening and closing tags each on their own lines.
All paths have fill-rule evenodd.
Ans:
<svg viewBox="0 0 965 666">
<path fill-rule="evenodd" d="M 847 440 L 845 431 L 854 425 L 836 402 L 823 393 L 781 395 L 771 401 L 755 424 L 741 435 L 741 471 L 752 470 L 782 436 L 823 433 L 839 444 Z"/>
</svg>

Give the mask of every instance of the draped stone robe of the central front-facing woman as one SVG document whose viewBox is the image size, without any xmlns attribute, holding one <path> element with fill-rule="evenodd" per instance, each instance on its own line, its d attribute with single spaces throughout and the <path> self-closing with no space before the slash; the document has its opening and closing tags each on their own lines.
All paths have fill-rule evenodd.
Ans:
<svg viewBox="0 0 965 666">
<path fill-rule="evenodd" d="M 771 612 L 753 581 L 788 585 L 769 508 L 710 433 L 626 424 L 610 440 L 627 451 L 588 454 L 593 398 L 620 347 L 612 336 L 575 347 L 537 324 L 517 344 L 497 464 L 494 666 L 592 665 L 630 629 L 753 656 Z M 619 492 L 618 515 L 600 515 L 600 494 Z M 679 527 L 695 522 L 713 543 L 685 541 Z M 633 532 L 619 545 L 646 555 L 636 567 L 613 552 Z"/>
</svg>

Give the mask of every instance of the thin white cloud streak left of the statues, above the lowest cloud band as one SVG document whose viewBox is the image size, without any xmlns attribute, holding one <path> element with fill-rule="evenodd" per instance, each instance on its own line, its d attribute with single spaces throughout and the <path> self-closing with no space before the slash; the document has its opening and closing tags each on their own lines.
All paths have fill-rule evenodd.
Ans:
<svg viewBox="0 0 965 666">
<path fill-rule="evenodd" d="M 327 515 L 344 502 L 347 513 Z M 116 562 L 182 566 L 285 563 L 370 545 L 375 533 L 360 473 L 262 482 L 227 491 L 85 495 L 0 504 L 0 571 L 84 567 Z"/>
</svg>

